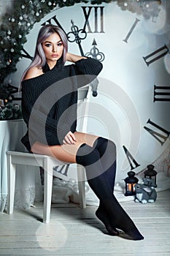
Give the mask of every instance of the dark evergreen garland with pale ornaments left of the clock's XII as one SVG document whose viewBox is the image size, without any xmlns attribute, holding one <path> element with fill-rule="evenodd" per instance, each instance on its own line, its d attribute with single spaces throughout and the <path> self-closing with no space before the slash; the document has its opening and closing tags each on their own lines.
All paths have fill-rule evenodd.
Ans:
<svg viewBox="0 0 170 256">
<path fill-rule="evenodd" d="M 0 29 L 0 83 L 12 72 L 16 71 L 16 64 L 20 61 L 26 35 L 29 34 L 34 23 L 39 22 L 54 8 L 71 6 L 80 0 L 18 0 L 12 4 L 2 18 Z M 88 1 L 83 1 L 88 2 Z"/>
</svg>

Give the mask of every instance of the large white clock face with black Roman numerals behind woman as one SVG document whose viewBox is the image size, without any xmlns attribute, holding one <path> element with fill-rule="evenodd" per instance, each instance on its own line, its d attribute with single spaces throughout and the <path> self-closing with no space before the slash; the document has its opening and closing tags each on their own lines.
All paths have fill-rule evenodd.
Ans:
<svg viewBox="0 0 170 256">
<path fill-rule="evenodd" d="M 152 12 L 148 19 L 122 10 L 115 1 L 56 9 L 28 34 L 26 58 L 18 63 L 13 78 L 20 77 L 30 63 L 27 57 L 34 55 L 42 24 L 62 26 L 66 34 L 72 32 L 73 25 L 82 29 L 78 41 L 69 34 L 69 51 L 98 58 L 104 65 L 98 77 L 98 96 L 90 99 L 87 132 L 117 144 L 117 181 L 125 178 L 128 170 L 142 172 L 169 146 L 170 75 L 166 62 L 170 46 L 166 22 L 166 10 L 161 5 L 158 15 Z"/>
</svg>

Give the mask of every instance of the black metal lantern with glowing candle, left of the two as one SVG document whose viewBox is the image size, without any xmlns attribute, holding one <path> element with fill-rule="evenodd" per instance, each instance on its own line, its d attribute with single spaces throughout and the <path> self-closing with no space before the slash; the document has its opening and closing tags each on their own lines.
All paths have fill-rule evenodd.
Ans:
<svg viewBox="0 0 170 256">
<path fill-rule="evenodd" d="M 135 177 L 135 174 L 132 170 L 128 172 L 128 177 L 124 179 L 125 181 L 125 196 L 136 195 L 135 185 L 138 183 L 138 178 Z"/>
</svg>

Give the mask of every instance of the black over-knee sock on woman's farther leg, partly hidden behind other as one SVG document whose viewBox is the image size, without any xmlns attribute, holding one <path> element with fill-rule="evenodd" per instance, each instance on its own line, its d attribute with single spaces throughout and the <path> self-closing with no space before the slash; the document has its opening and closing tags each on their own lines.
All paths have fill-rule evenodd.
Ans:
<svg viewBox="0 0 170 256">
<path fill-rule="evenodd" d="M 116 176 L 116 146 L 111 140 L 99 137 L 96 139 L 93 148 L 96 148 L 100 154 L 101 165 L 105 170 L 105 176 L 109 182 L 109 186 L 114 190 L 115 186 L 115 176 Z M 110 235 L 118 235 L 118 231 L 112 226 L 107 212 L 104 209 L 101 201 L 99 203 L 98 209 L 96 211 L 96 217 L 104 223 L 107 231 Z"/>
</svg>

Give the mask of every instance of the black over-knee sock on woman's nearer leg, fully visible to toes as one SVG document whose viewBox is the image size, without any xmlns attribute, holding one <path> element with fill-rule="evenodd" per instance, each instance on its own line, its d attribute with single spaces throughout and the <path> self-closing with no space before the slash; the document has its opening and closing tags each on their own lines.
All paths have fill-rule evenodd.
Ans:
<svg viewBox="0 0 170 256">
<path fill-rule="evenodd" d="M 112 189 L 107 181 L 103 167 L 101 165 L 98 150 L 91 148 L 87 144 L 82 144 L 77 151 L 77 163 L 85 167 L 88 184 L 99 200 L 101 200 L 109 219 L 113 219 L 113 225 L 123 230 L 134 240 L 141 240 L 144 237 L 128 217 L 112 193 Z"/>
</svg>

